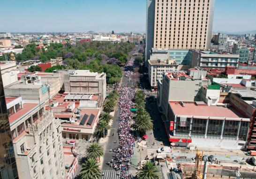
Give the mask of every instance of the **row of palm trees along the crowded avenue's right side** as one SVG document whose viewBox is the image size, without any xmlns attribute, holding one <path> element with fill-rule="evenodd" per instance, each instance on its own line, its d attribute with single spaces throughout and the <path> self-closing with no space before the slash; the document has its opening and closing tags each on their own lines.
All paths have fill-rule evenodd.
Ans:
<svg viewBox="0 0 256 179">
<path fill-rule="evenodd" d="M 153 129 L 153 122 L 150 114 L 145 110 L 145 93 L 143 90 L 136 90 L 135 103 L 137 108 L 135 128 L 143 135 Z"/>
</svg>

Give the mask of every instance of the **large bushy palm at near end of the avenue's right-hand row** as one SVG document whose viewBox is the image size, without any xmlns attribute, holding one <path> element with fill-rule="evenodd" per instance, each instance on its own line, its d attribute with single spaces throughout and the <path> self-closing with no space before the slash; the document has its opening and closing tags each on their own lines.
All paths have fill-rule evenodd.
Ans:
<svg viewBox="0 0 256 179">
<path fill-rule="evenodd" d="M 151 120 L 150 115 L 147 113 L 137 115 L 135 120 L 136 129 L 141 132 L 141 134 L 145 134 L 147 131 L 153 129 L 153 122 Z"/>
</svg>

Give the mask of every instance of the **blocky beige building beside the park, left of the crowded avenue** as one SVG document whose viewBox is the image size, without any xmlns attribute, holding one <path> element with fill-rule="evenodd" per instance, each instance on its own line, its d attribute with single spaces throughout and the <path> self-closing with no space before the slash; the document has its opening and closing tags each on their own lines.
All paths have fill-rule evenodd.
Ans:
<svg viewBox="0 0 256 179">
<path fill-rule="evenodd" d="M 98 94 L 101 101 L 106 97 L 106 74 L 90 70 L 69 70 L 64 76 L 65 93 Z"/>
</svg>

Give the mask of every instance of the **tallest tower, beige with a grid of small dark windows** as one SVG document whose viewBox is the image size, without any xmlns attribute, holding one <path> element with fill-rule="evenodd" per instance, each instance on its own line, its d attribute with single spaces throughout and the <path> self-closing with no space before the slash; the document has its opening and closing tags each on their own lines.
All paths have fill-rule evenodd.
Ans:
<svg viewBox="0 0 256 179">
<path fill-rule="evenodd" d="M 151 48 L 210 48 L 214 4 L 215 0 L 147 0 L 145 60 Z"/>
</svg>

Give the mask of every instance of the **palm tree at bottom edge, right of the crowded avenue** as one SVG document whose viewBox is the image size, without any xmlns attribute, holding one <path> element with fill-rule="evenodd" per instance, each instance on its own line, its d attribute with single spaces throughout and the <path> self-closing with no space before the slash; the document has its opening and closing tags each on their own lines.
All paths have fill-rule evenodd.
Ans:
<svg viewBox="0 0 256 179">
<path fill-rule="evenodd" d="M 136 179 L 161 179 L 161 173 L 157 166 L 151 162 L 146 161 L 136 173 Z"/>
</svg>

